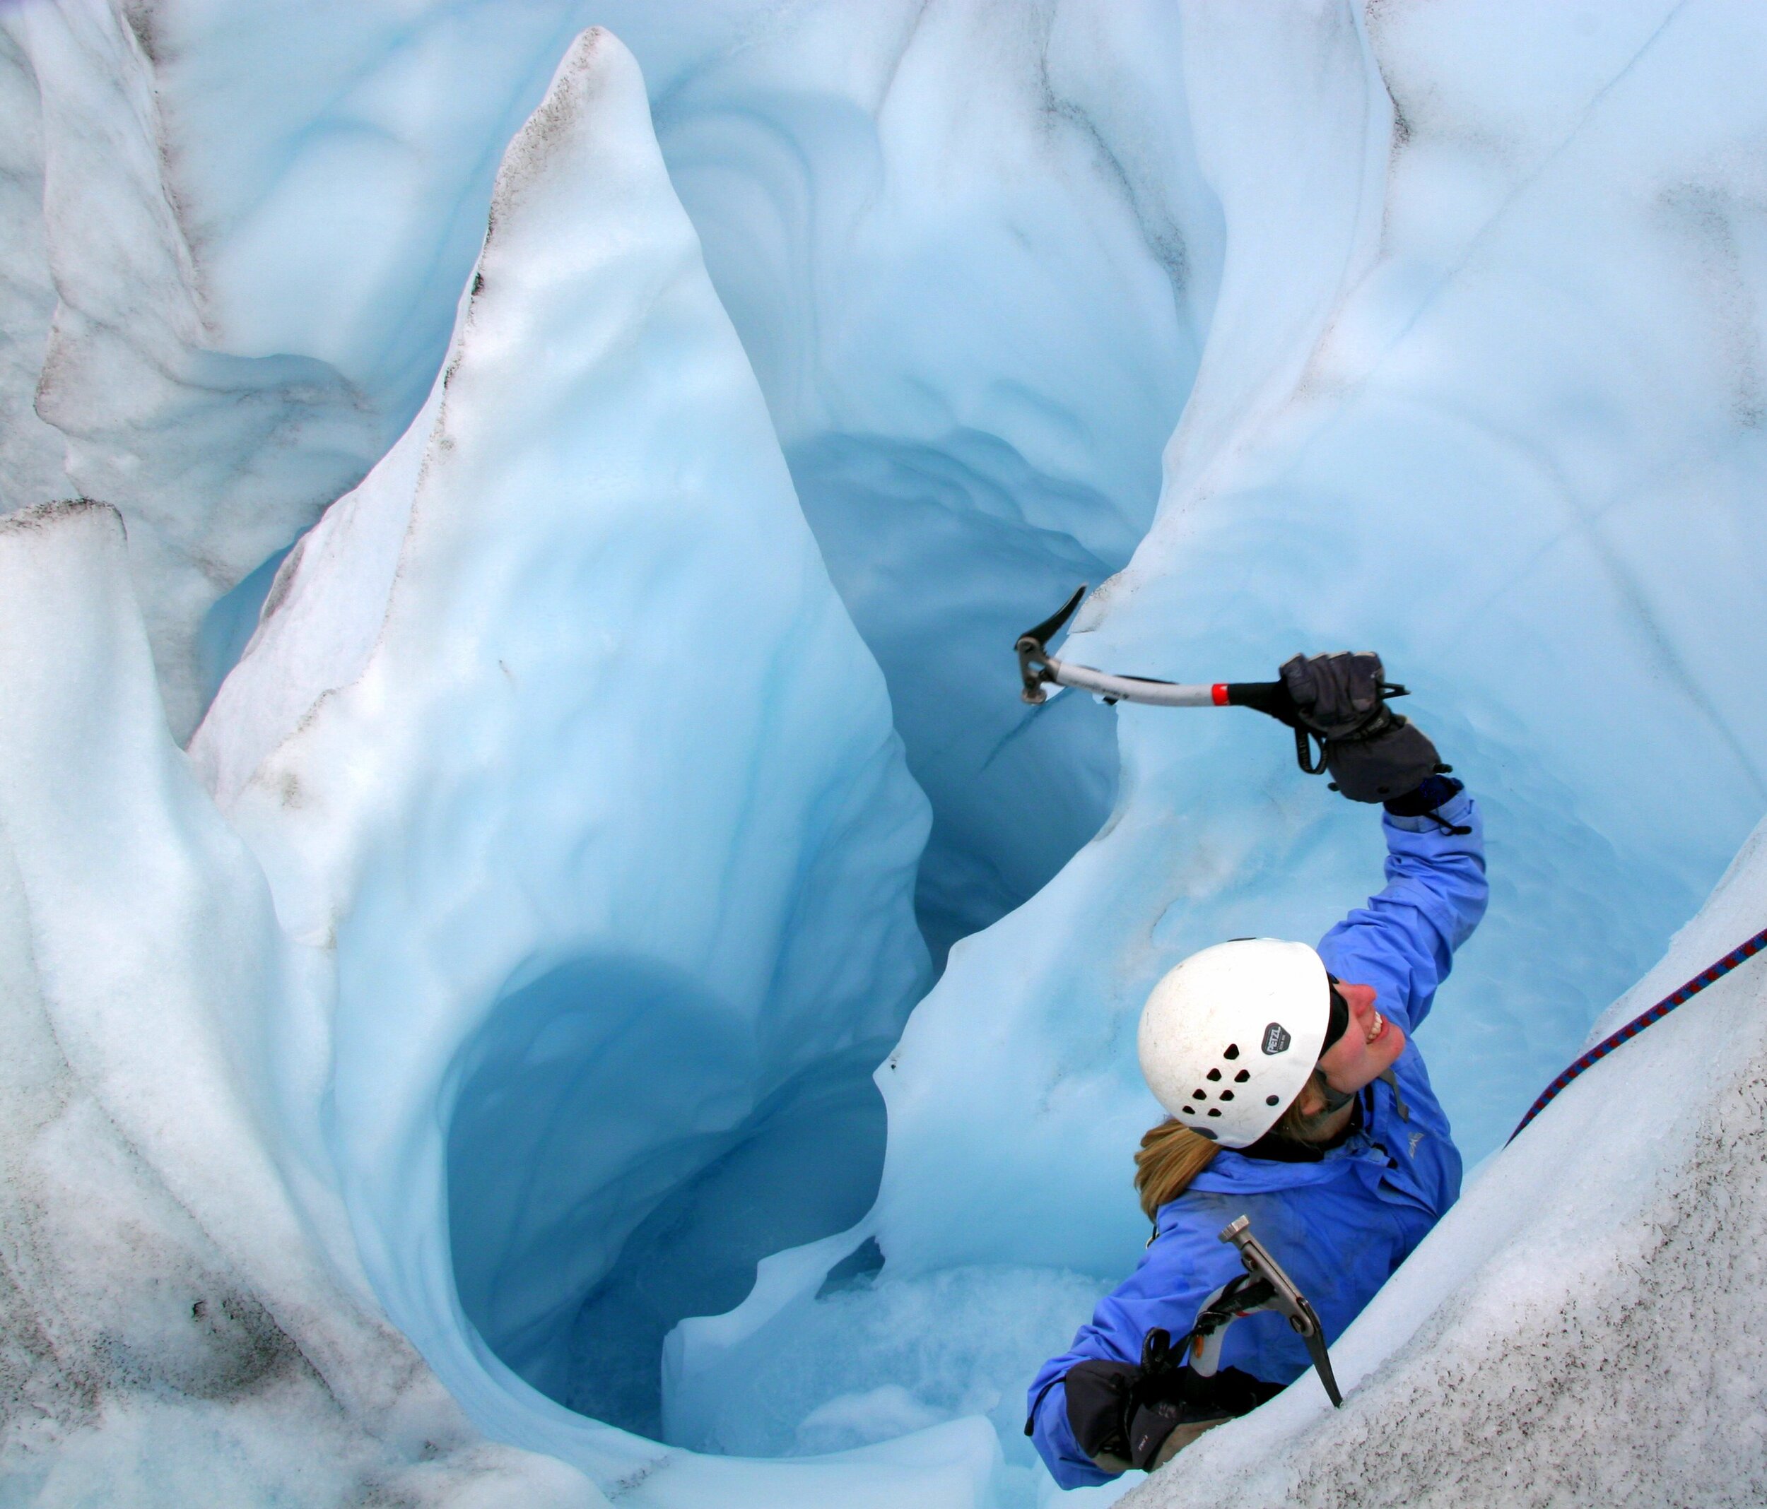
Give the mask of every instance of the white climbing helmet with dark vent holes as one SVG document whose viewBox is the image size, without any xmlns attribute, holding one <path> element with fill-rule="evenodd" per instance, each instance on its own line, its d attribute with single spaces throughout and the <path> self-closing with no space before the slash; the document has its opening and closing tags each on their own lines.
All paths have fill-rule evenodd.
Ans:
<svg viewBox="0 0 1767 1509">
<path fill-rule="evenodd" d="M 1216 944 L 1170 970 L 1141 1007 L 1141 1074 L 1184 1126 L 1249 1147 L 1301 1094 L 1329 1023 L 1331 977 L 1306 944 Z"/>
</svg>

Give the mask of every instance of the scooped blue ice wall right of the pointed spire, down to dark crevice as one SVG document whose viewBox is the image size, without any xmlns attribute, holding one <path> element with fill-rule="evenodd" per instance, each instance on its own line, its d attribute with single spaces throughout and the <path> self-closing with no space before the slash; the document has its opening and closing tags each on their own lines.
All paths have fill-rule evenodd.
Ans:
<svg viewBox="0 0 1767 1509">
<path fill-rule="evenodd" d="M 1223 256 L 1182 35 L 1172 7 L 1122 0 L 822 4 L 657 92 L 933 804 L 919 912 L 940 959 L 1111 804 L 1110 716 L 1032 716 L 1000 652 L 1152 519 Z"/>
</svg>

